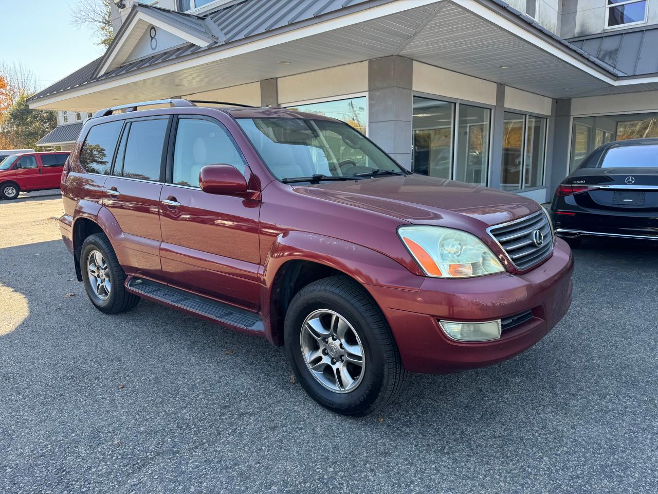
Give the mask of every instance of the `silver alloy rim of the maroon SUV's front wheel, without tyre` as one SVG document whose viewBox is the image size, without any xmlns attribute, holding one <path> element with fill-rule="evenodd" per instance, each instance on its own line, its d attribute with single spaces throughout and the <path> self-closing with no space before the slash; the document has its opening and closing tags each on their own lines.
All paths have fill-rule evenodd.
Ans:
<svg viewBox="0 0 658 494">
<path fill-rule="evenodd" d="M 345 317 L 328 309 L 305 319 L 300 334 L 306 366 L 322 386 L 335 393 L 356 389 L 365 371 L 365 352 L 359 334 Z"/>
</svg>

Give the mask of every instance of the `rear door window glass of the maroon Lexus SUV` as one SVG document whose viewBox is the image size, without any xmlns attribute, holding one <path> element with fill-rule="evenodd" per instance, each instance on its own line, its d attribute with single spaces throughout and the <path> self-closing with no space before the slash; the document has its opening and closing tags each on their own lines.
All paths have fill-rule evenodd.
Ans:
<svg viewBox="0 0 658 494">
<path fill-rule="evenodd" d="M 124 153 L 124 177 L 160 180 L 167 123 L 168 119 L 157 119 L 130 124 Z"/>
</svg>

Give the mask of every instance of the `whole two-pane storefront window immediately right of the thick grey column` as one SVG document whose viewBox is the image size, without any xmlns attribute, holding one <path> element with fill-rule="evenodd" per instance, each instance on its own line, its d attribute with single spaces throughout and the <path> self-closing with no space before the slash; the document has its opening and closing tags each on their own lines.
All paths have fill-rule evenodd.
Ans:
<svg viewBox="0 0 658 494">
<path fill-rule="evenodd" d="M 415 96 L 413 171 L 430 177 L 486 184 L 490 125 L 488 108 Z"/>
</svg>

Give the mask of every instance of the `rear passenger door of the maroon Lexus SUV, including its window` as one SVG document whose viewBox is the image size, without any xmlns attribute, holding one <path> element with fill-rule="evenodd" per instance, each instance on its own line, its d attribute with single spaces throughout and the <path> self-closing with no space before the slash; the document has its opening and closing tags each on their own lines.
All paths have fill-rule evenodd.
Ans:
<svg viewBox="0 0 658 494">
<path fill-rule="evenodd" d="M 103 206 L 122 234 L 116 240 L 128 274 L 160 280 L 160 190 L 163 188 L 170 117 L 126 121 L 112 173 L 103 188 Z"/>
</svg>

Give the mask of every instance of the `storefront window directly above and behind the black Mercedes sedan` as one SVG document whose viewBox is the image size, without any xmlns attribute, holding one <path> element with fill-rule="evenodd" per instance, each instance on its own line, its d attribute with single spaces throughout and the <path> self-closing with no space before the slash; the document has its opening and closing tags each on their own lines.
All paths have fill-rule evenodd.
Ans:
<svg viewBox="0 0 658 494">
<path fill-rule="evenodd" d="M 592 151 L 613 140 L 658 137 L 658 113 L 597 115 L 574 119 L 571 132 L 570 170 Z"/>
</svg>

